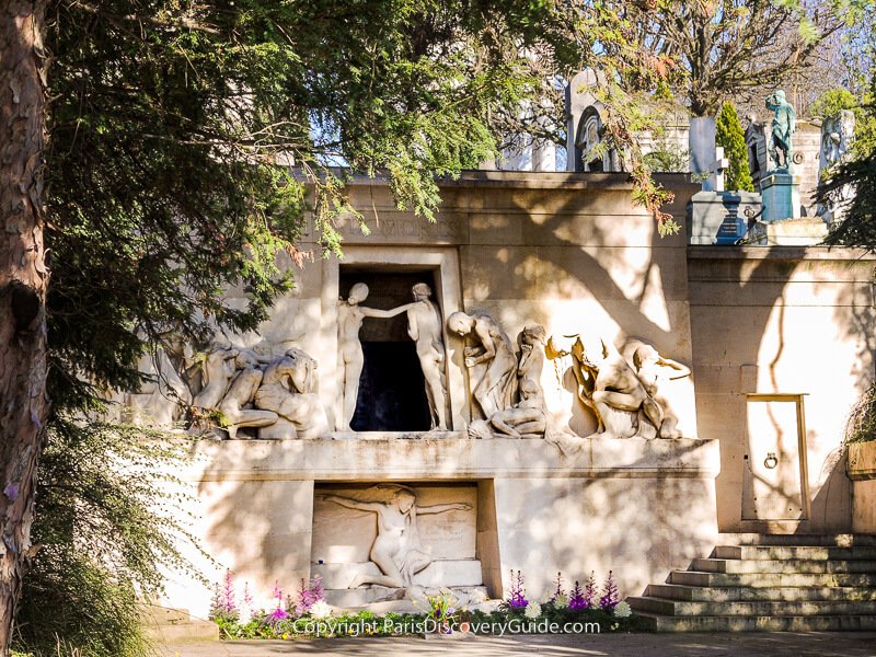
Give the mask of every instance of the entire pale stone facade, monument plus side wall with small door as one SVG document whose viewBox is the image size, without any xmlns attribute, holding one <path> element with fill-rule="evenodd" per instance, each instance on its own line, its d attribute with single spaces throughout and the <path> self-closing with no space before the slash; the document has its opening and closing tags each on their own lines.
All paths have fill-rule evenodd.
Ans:
<svg viewBox="0 0 876 657">
<path fill-rule="evenodd" d="M 699 186 L 683 175 L 660 182 L 675 192 L 668 210 L 682 221 Z M 425 415 L 408 414 L 414 402 L 380 396 L 394 384 L 381 371 L 399 379 L 419 365 L 404 313 L 366 318 L 357 414 L 365 406 L 380 412 L 315 440 L 289 434 L 199 443 L 183 485 L 198 500 L 196 534 L 219 564 L 201 565 L 217 580 L 231 568 L 262 597 L 275 580 L 291 591 L 322 574 L 337 603 L 381 603 L 373 587 L 344 584 L 385 575 L 374 557 L 379 505 L 392 506 L 390 520 L 406 522 L 415 506 L 422 558 L 411 568 L 413 587 L 443 581 L 472 601 L 500 597 L 509 570 L 520 568 L 540 598 L 558 570 L 575 579 L 613 569 L 624 593 L 638 593 L 701 554 L 718 530 L 764 522 L 848 530 L 849 484 L 832 459 L 844 410 L 872 376 L 873 263 L 818 249 L 689 247 L 683 234 L 659 238 L 631 192 L 624 174 L 474 172 L 443 185 L 438 222 L 428 223 L 399 210 L 382 183 L 355 181 L 350 200 L 370 232 L 342 220 L 344 258 L 299 269 L 295 291 L 278 300 L 260 335 L 234 337 L 234 348 L 267 343 L 285 351 L 293 344 L 319 364 L 319 385 L 302 388 L 319 397 L 327 427 L 343 426 L 338 299 L 367 280 L 366 303 L 389 310 L 408 301 L 412 281 L 425 283 L 442 319 L 447 430 L 430 429 L 427 405 Z M 312 232 L 308 245 L 315 247 Z M 475 395 L 483 374 L 466 362 L 483 345 L 448 327 L 453 313 L 488 315 L 515 358 L 527 341 L 544 353 L 538 367 L 525 368 L 520 358 L 516 374 L 521 390 L 526 378 L 540 388 L 543 438 L 492 430 L 472 437 L 476 420 L 497 422 Z M 588 356 L 600 349 L 600 358 Z M 616 388 L 600 376 L 626 367 L 611 371 L 642 381 L 625 393 L 635 403 L 600 395 Z M 659 373 L 668 382 L 657 387 Z M 392 394 L 425 395 L 422 388 L 404 384 Z M 504 410 L 518 410 L 523 397 Z M 600 430 L 592 411 L 600 403 L 611 431 Z M 381 410 L 402 418 L 400 427 L 381 428 Z M 627 415 L 609 417 L 615 412 Z M 662 426 L 668 416 L 672 424 Z M 634 437 L 612 437 L 621 435 L 619 422 Z M 762 457 L 747 451 L 748 436 L 765 430 L 780 447 Z M 796 461 L 785 443 L 798 445 Z M 752 484 L 762 468 L 746 461 L 772 463 L 773 452 L 781 466 L 768 465 L 768 476 L 783 486 L 795 472 L 804 477 L 796 497 L 786 491 L 798 508 L 764 499 Z M 414 502 L 384 497 L 393 486 Z M 775 509 L 784 517 L 773 517 Z M 209 591 L 187 579 L 169 585 L 170 604 L 203 614 L 208 601 Z"/>
</svg>

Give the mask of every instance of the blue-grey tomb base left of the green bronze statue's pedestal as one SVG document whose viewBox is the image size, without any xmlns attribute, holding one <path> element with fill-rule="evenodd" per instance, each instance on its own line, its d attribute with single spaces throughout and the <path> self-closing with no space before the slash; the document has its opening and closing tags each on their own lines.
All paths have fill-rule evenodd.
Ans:
<svg viewBox="0 0 876 657">
<path fill-rule="evenodd" d="M 688 223 L 690 244 L 735 244 L 748 231 L 746 210 L 758 212 L 760 194 L 698 192 L 691 198 Z M 749 212 L 752 214 L 752 212 Z"/>
</svg>

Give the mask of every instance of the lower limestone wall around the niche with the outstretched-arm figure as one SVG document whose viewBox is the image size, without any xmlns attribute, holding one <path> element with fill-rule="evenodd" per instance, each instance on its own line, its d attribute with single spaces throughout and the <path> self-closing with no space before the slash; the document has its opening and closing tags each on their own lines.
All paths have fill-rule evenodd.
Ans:
<svg viewBox="0 0 876 657">
<path fill-rule="evenodd" d="M 275 583 L 295 592 L 318 572 L 339 581 L 332 566 L 367 560 L 374 514 L 323 495 L 370 500 L 385 483 L 417 491 L 418 506 L 468 503 L 471 509 L 422 516 L 423 546 L 438 564 L 476 560 L 491 596 L 507 593 L 511 568 L 523 572 L 535 599 L 557 572 L 568 581 L 596 570 L 601 580 L 612 569 L 624 595 L 637 595 L 714 543 L 717 470 L 713 440 L 592 438 L 564 454 L 544 440 L 454 435 L 205 442 L 176 474 L 197 498 L 195 534 L 215 561 L 188 555 L 216 581 L 230 568 L 239 591 L 249 583 L 266 603 Z M 165 601 L 205 615 L 210 596 L 175 575 Z"/>
</svg>

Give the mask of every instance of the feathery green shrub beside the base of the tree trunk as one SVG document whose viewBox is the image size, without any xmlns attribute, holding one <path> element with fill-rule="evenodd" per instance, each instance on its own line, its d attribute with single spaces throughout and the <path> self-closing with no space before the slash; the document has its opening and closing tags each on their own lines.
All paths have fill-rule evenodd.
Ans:
<svg viewBox="0 0 876 657">
<path fill-rule="evenodd" d="M 14 645 L 34 657 L 149 655 L 141 601 L 161 566 L 188 569 L 168 498 L 182 445 L 139 428 L 53 423 L 38 474 L 39 550 L 24 579 Z"/>
</svg>

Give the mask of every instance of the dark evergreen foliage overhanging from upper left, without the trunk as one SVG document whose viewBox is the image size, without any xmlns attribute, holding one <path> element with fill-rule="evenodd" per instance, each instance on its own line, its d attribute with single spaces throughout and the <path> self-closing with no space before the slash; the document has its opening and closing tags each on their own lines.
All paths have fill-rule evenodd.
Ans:
<svg viewBox="0 0 876 657">
<path fill-rule="evenodd" d="M 491 113 L 540 83 L 522 50 L 553 20 L 522 0 L 53 8 L 56 407 L 135 389 L 150 345 L 254 328 L 292 285 L 278 265 L 302 262 L 306 209 L 316 255 L 338 250 L 334 220 L 355 215 L 331 164 L 388 174 L 400 207 L 434 219 L 436 176 L 489 157 Z M 246 308 L 224 302 L 228 286 Z"/>
</svg>

